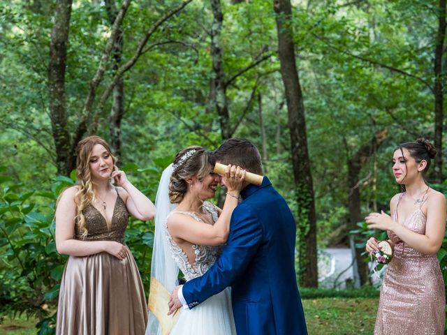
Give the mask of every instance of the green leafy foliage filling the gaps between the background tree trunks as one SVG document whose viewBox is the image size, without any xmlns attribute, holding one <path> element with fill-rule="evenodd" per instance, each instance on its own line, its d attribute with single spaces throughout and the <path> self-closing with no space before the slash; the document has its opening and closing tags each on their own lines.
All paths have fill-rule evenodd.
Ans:
<svg viewBox="0 0 447 335">
<path fill-rule="evenodd" d="M 144 32 L 178 2 L 132 2 L 122 27 L 123 63 L 133 57 Z M 318 245 L 326 246 L 332 243 L 334 234 L 345 237 L 347 234 L 346 162 L 358 148 L 368 143 L 376 131 L 388 129 L 387 140 L 365 162 L 359 176 L 362 213 L 367 214 L 375 207 L 387 208 L 390 195 L 397 191 L 389 165 L 395 145 L 418 135 L 433 137 L 434 99 L 427 85 L 433 82 L 437 10 L 433 1 L 292 2 L 293 39 L 306 110 Z M 36 306 L 52 298 L 52 294 L 45 297 L 52 283 L 57 282 L 53 277 L 57 278 L 59 270 L 52 272 L 52 267 L 64 264 L 61 258 L 61 262 L 50 262 L 43 267 L 42 273 L 29 271 L 15 280 L 22 271 L 19 260 L 26 260 L 28 254 L 34 255 L 34 261 L 25 265 L 36 265 L 42 247 L 52 241 L 50 235 L 54 234 L 54 228 L 50 221 L 54 199 L 66 185 L 63 179 L 52 181 L 56 174 L 55 148 L 47 99 L 47 64 L 55 3 L 42 0 L 0 3 L 0 161 L 8 165 L 0 181 L 11 187 L 3 191 L 5 197 L 1 202 L 11 210 L 2 212 L 0 218 L 1 227 L 8 228 L 6 232 L 13 243 L 22 241 L 17 242 L 17 258 L 8 239 L 1 234 L 0 248 L 4 256 L 0 258 L 0 276 L 4 277 L 0 278 L 0 285 L 7 287 L 0 290 L 0 299 L 16 304 L 22 298 L 38 301 L 28 282 L 45 273 L 48 280 L 36 284 L 44 290 Z M 305 234 L 309 225 L 302 208 L 309 199 L 303 195 L 297 200 L 291 173 L 288 118 L 276 54 L 272 1 L 237 4 L 221 1 L 221 5 L 226 80 L 261 54 L 272 53 L 270 59 L 247 70 L 226 87 L 230 126 L 235 136 L 247 137 L 261 149 L 258 112 L 262 107 L 266 174 L 296 214 L 300 234 Z M 126 163 L 122 169 L 129 173 L 129 178 L 152 200 L 161 169 L 177 150 L 191 144 L 214 149 L 221 142 L 220 120 L 212 103 L 211 25 L 209 1 L 193 1 L 151 36 L 142 57 L 124 75 L 125 111 L 119 160 Z M 80 119 L 89 82 L 98 68 L 108 34 L 110 22 L 103 2 L 74 2 L 65 87 L 71 133 Z M 110 83 L 111 58 L 97 96 Z M 256 101 L 258 95 L 261 104 Z M 111 105 L 112 98 L 106 101 L 105 112 L 100 115 L 97 135 L 105 139 L 110 138 Z M 444 140 L 444 147 L 445 143 Z M 446 164 L 444 170 L 445 167 Z M 73 175 L 71 178 L 74 179 Z M 36 191 L 25 199 L 30 190 Z M 14 202 L 17 204 L 12 205 Z M 26 211 L 36 222 L 26 218 Z M 146 290 L 152 230 L 152 223 L 131 220 L 127 231 Z M 360 230 L 362 240 L 356 243 L 362 248 L 370 232 L 365 227 Z M 50 235 L 45 237 L 45 234 Z M 48 248 L 50 260 L 57 260 Z M 439 253 L 446 276 L 447 257 L 443 250 L 447 250 L 446 241 Z"/>
</svg>

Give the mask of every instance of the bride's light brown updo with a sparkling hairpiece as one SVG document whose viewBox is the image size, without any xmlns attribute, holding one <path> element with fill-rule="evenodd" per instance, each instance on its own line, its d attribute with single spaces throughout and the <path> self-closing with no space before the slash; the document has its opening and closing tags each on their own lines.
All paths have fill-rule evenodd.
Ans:
<svg viewBox="0 0 447 335">
<path fill-rule="evenodd" d="M 186 179 L 197 177 L 201 181 L 212 172 L 212 165 L 208 161 L 208 151 L 197 145 L 180 150 L 173 161 L 173 174 L 169 183 L 169 200 L 178 204 L 183 200 L 188 190 Z"/>
</svg>

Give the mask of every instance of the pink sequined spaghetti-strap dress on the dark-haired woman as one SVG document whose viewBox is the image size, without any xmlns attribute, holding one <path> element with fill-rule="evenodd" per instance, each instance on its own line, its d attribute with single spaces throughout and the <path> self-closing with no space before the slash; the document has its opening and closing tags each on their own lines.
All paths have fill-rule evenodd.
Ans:
<svg viewBox="0 0 447 335">
<path fill-rule="evenodd" d="M 402 225 L 424 234 L 427 218 L 421 207 Z M 437 256 L 416 251 L 392 232 L 388 237 L 395 243 L 394 257 L 383 278 L 374 335 L 444 335 L 446 295 Z"/>
</svg>

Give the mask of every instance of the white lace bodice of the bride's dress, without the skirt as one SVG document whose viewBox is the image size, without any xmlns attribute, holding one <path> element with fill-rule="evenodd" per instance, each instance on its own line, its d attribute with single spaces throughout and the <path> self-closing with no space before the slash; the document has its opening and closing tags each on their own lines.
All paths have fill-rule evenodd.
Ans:
<svg viewBox="0 0 447 335">
<path fill-rule="evenodd" d="M 210 202 L 203 202 L 203 209 L 211 214 L 213 224 L 217 221 L 218 213 L 217 209 Z M 170 214 L 179 213 L 189 215 L 194 220 L 198 222 L 204 222 L 194 211 L 172 211 Z M 170 215 L 169 214 L 169 215 Z M 168 215 L 168 217 L 169 217 Z M 173 258 L 177 263 L 180 270 L 184 274 L 186 281 L 190 281 L 193 278 L 200 277 L 205 274 L 210 267 L 216 262 L 219 257 L 222 246 L 200 246 L 198 244 L 193 244 L 193 250 L 196 254 L 196 262 L 193 265 L 188 260 L 188 256 L 186 253 L 180 248 L 174 241 L 173 237 L 170 236 L 167 227 L 167 218 L 166 218 L 166 239 L 168 239 L 168 245 L 170 251 L 173 254 Z"/>
</svg>

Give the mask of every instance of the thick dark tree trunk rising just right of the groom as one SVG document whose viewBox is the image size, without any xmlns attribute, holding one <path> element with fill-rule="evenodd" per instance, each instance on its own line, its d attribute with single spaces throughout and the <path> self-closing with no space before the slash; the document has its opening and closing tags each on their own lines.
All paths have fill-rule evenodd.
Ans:
<svg viewBox="0 0 447 335">
<path fill-rule="evenodd" d="M 274 11 L 277 13 L 279 62 L 286 92 L 293 175 L 298 203 L 297 234 L 300 271 L 298 279 L 300 285 L 316 288 L 318 286 L 318 270 L 316 266 L 314 188 L 307 151 L 305 106 L 302 101 L 291 32 L 291 1 L 274 0 Z"/>
</svg>

